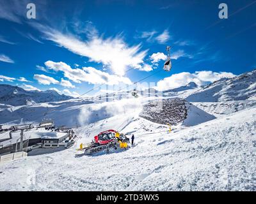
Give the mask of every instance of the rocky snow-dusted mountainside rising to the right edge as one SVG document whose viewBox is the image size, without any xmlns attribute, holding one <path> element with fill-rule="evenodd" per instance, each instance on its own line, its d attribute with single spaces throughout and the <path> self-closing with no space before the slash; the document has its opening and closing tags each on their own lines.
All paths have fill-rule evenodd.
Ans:
<svg viewBox="0 0 256 204">
<path fill-rule="evenodd" d="M 230 79 L 221 79 L 186 98 L 190 102 L 237 101 L 256 96 L 256 69 Z"/>
</svg>

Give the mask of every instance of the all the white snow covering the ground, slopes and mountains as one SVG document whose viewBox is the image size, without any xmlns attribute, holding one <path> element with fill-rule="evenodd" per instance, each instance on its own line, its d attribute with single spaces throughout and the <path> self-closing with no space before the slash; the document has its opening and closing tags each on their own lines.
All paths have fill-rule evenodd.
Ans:
<svg viewBox="0 0 256 204">
<path fill-rule="evenodd" d="M 126 99 L 120 99 L 121 93 L 109 94 L 110 102 L 104 102 L 106 95 L 102 95 L 33 105 L 1 104 L 3 128 L 39 123 L 44 115 L 57 126 L 81 127 L 74 128 L 77 139 L 69 149 L 38 149 L 28 157 L 0 163 L 0 191 L 256 191 L 255 73 L 221 79 L 204 88 L 189 84 L 164 92 L 163 97 L 126 98 L 129 93 L 124 92 Z M 182 102 L 170 107 L 177 113 L 186 109 L 186 118 L 178 115 L 182 120 L 173 124 L 170 133 L 165 122 L 140 117 L 148 103 L 177 97 L 184 106 Z M 170 107 L 163 111 L 166 117 L 172 117 Z M 151 117 L 158 114 L 150 108 L 146 112 Z M 134 134 L 135 145 L 92 156 L 77 150 L 80 143 L 91 142 L 108 129 L 129 138 Z M 0 140 L 1 136 L 8 133 L 0 134 Z"/>
</svg>

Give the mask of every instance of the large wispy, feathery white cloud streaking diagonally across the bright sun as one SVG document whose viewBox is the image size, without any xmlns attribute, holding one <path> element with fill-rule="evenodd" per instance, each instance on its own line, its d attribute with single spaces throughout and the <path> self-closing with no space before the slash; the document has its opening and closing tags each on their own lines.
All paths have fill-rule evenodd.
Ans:
<svg viewBox="0 0 256 204">
<path fill-rule="evenodd" d="M 72 34 L 63 34 L 39 24 L 34 25 L 44 33 L 47 40 L 54 41 L 75 54 L 88 57 L 90 61 L 104 64 L 116 75 L 124 76 L 128 67 L 136 68 L 142 64 L 147 54 L 147 50 L 140 51 L 141 44 L 130 47 L 120 36 L 104 39 L 94 35 L 87 41 L 82 41 Z"/>
</svg>

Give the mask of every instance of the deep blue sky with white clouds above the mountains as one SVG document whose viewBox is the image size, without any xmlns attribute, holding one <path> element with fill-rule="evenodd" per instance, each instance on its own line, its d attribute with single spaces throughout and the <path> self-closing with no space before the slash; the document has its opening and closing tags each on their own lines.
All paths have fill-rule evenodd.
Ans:
<svg viewBox="0 0 256 204">
<path fill-rule="evenodd" d="M 26 18 L 31 2 L 36 19 Z M 157 89 L 251 71 L 256 1 L 225 1 L 228 19 L 222 20 L 220 3 L 1 0 L 0 83 L 72 96 L 100 84 L 119 89 L 163 69 L 166 45 L 172 70 L 143 81 Z"/>
</svg>

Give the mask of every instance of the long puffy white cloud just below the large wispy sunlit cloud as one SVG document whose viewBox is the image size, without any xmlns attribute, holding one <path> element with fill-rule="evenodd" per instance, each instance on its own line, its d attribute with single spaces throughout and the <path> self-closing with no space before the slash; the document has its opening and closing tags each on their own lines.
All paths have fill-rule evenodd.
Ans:
<svg viewBox="0 0 256 204">
<path fill-rule="evenodd" d="M 119 83 L 132 84 L 131 80 L 127 77 L 120 77 L 117 75 L 110 75 L 104 71 L 92 67 L 85 67 L 83 69 L 72 69 L 65 62 L 45 62 L 48 69 L 54 71 L 63 71 L 64 77 L 76 83 L 88 82 L 89 84 L 108 84 L 114 85 Z"/>
</svg>

